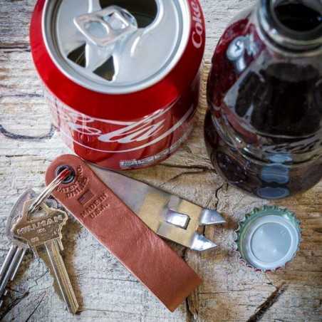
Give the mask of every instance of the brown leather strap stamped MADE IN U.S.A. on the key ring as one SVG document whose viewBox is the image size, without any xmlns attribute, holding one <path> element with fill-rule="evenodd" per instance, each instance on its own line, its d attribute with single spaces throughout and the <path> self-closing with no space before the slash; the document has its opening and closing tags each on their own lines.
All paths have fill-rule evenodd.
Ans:
<svg viewBox="0 0 322 322">
<path fill-rule="evenodd" d="M 200 277 L 79 157 L 62 155 L 54 160 L 46 172 L 46 185 L 63 165 L 72 167 L 76 176 L 72 182 L 61 184 L 53 196 L 170 311 L 175 311 L 201 283 Z"/>
</svg>

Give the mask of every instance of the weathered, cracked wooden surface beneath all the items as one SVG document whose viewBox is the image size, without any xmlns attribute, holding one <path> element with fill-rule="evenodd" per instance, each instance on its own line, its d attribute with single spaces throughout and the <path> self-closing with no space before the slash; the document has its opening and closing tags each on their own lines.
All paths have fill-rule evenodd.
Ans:
<svg viewBox="0 0 322 322">
<path fill-rule="evenodd" d="M 251 0 L 201 0 L 207 21 L 204 81 L 210 58 L 229 19 Z M 53 158 L 70 152 L 51 128 L 28 44 L 34 0 L 0 4 L 0 264 L 10 243 L 6 219 L 25 189 L 40 191 Z M 202 93 L 202 118 L 206 108 Z M 246 212 L 263 204 L 228 186 L 207 158 L 202 118 L 187 144 L 161 165 L 132 172 L 137 179 L 162 187 L 227 220 L 207 227 L 219 246 L 197 254 L 173 246 L 203 278 L 186 303 L 170 313 L 80 224 L 69 220 L 63 231 L 66 263 L 80 312 L 71 316 L 54 293 L 48 269 L 28 253 L 0 311 L 4 321 L 321 321 L 322 320 L 322 182 L 311 191 L 276 202 L 296 212 L 303 227 L 301 250 L 286 269 L 253 273 L 234 253 L 233 232 Z M 36 138 L 35 138 L 36 137 Z"/>
</svg>

